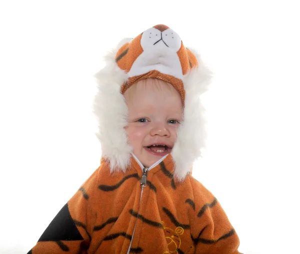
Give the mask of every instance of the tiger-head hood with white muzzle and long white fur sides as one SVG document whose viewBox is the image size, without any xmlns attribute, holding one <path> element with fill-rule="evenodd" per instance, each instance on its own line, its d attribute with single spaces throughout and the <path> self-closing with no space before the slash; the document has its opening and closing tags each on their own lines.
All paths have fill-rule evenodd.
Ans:
<svg viewBox="0 0 300 254">
<path fill-rule="evenodd" d="M 124 129 L 128 108 L 123 93 L 141 79 L 158 78 L 174 86 L 184 106 L 183 121 L 170 153 L 174 176 L 183 180 L 194 160 L 201 156 L 205 141 L 200 95 L 206 91 L 211 74 L 199 54 L 186 48 L 174 30 L 158 24 L 135 38 L 124 38 L 104 59 L 105 67 L 95 74 L 98 91 L 93 109 L 102 156 L 109 160 L 110 171 L 125 171 L 131 161 L 132 148 Z"/>
</svg>

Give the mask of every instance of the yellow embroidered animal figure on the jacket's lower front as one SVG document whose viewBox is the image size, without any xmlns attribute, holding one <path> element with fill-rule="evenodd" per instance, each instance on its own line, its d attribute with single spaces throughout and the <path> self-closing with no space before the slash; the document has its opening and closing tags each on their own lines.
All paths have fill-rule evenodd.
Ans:
<svg viewBox="0 0 300 254">
<path fill-rule="evenodd" d="M 168 250 L 164 251 L 162 254 L 175 253 L 178 254 L 178 248 L 181 245 L 180 234 L 183 234 L 183 228 L 181 226 L 177 226 L 175 230 L 170 227 L 165 227 L 164 222 L 161 221 L 163 225 L 164 235 L 167 242 Z"/>
</svg>

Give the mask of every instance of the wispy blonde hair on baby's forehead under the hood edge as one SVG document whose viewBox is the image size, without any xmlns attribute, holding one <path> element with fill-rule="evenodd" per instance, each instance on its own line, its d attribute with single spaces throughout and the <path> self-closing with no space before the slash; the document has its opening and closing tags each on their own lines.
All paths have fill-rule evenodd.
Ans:
<svg viewBox="0 0 300 254">
<path fill-rule="evenodd" d="M 154 92 L 161 93 L 161 94 L 163 94 L 162 87 L 164 87 L 164 88 L 167 88 L 169 93 L 175 92 L 180 97 L 180 93 L 174 88 L 174 86 L 172 84 L 165 82 L 158 78 L 144 78 L 144 79 L 141 79 L 141 80 L 137 81 L 136 83 L 132 84 L 124 92 L 124 94 L 126 94 L 126 97 L 128 98 L 128 100 L 132 99 L 133 95 L 136 92 L 137 85 L 138 85 L 138 87 L 143 88 L 145 90 L 145 92 L 147 92 L 149 90 L 154 90 Z"/>
</svg>

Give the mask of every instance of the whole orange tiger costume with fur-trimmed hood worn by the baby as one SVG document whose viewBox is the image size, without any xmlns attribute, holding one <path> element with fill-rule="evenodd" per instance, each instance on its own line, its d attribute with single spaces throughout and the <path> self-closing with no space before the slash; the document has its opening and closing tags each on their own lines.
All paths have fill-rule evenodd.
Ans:
<svg viewBox="0 0 300 254">
<path fill-rule="evenodd" d="M 175 87 L 184 119 L 171 152 L 147 168 L 127 142 L 122 94 L 149 77 Z M 238 254 L 238 236 L 221 205 L 190 173 L 204 144 L 198 98 L 209 77 L 199 55 L 185 48 L 178 34 L 165 25 L 122 40 L 96 74 L 100 166 L 28 254 Z"/>
</svg>

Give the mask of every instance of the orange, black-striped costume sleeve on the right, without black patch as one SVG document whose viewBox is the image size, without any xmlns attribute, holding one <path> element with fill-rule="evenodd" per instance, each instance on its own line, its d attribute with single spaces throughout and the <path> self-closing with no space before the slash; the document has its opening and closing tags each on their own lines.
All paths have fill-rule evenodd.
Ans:
<svg viewBox="0 0 300 254">
<path fill-rule="evenodd" d="M 218 200 L 194 180 L 195 210 L 191 214 L 191 237 L 196 254 L 241 254 L 239 238 Z"/>
</svg>

